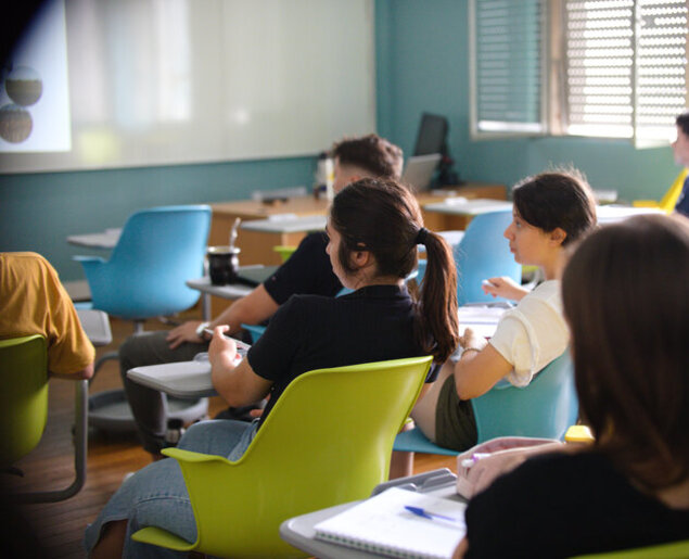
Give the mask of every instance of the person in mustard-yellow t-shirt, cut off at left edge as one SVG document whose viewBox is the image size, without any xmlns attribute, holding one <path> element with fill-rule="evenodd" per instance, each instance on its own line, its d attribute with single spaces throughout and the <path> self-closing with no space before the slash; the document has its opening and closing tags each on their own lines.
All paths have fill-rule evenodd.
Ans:
<svg viewBox="0 0 689 559">
<path fill-rule="evenodd" d="M 29 334 L 46 339 L 52 376 L 93 376 L 95 351 L 55 269 L 40 254 L 0 253 L 0 338 Z"/>
</svg>

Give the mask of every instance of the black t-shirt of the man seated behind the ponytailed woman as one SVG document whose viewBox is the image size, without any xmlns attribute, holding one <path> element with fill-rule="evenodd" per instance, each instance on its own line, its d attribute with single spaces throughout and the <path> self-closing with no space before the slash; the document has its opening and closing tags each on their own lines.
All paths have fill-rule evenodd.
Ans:
<svg viewBox="0 0 689 559">
<path fill-rule="evenodd" d="M 292 256 L 264 281 L 264 288 L 278 304 L 294 294 L 335 296 L 342 283 L 332 271 L 326 253 L 328 236 L 323 232 L 306 236 Z"/>
</svg>

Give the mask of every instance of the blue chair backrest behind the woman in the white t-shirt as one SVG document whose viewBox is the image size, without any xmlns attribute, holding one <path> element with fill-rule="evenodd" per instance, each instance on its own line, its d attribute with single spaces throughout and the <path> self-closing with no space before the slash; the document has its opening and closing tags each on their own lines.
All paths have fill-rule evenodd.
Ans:
<svg viewBox="0 0 689 559">
<path fill-rule="evenodd" d="M 508 435 L 562 440 L 578 416 L 569 351 L 544 367 L 527 386 L 500 381 L 471 404 L 479 443 Z"/>
</svg>

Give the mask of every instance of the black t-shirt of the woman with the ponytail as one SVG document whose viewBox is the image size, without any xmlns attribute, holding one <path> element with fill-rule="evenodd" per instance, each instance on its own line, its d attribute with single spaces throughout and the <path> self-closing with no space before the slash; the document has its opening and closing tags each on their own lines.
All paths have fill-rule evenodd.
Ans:
<svg viewBox="0 0 689 559">
<path fill-rule="evenodd" d="M 292 296 L 246 355 L 256 374 L 273 381 L 261 422 L 304 372 L 423 355 L 413 340 L 413 317 L 406 287 L 370 285 L 341 297 Z"/>
</svg>

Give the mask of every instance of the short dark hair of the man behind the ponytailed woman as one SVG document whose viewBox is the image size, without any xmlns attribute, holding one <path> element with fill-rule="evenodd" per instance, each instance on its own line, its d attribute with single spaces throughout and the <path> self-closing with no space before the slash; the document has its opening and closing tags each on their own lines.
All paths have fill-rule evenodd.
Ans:
<svg viewBox="0 0 689 559">
<path fill-rule="evenodd" d="M 341 165 L 354 165 L 372 177 L 399 179 L 404 155 L 400 148 L 375 134 L 359 138 L 344 138 L 333 144 L 331 156 Z"/>
</svg>

